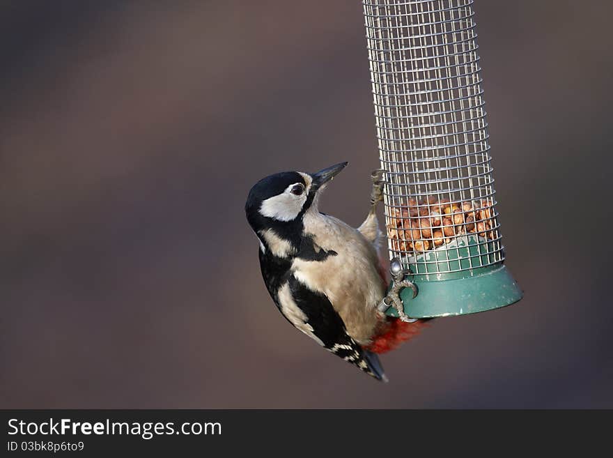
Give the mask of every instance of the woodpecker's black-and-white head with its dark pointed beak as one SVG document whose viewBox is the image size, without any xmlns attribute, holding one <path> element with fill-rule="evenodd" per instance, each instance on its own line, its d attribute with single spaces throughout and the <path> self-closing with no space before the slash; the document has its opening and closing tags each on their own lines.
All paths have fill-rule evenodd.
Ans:
<svg viewBox="0 0 613 458">
<path fill-rule="evenodd" d="M 304 213 L 317 208 L 318 192 L 346 165 L 341 162 L 314 174 L 284 171 L 262 178 L 249 191 L 245 204 L 251 228 L 256 234 L 274 229 L 281 236 L 300 231 Z"/>
</svg>

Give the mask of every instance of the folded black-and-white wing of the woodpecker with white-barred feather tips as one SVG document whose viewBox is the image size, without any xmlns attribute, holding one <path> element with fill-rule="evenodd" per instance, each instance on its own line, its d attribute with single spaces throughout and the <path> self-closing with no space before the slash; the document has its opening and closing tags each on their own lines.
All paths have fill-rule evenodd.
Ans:
<svg viewBox="0 0 613 458">
<path fill-rule="evenodd" d="M 292 275 L 279 289 L 277 300 L 281 313 L 297 329 L 375 379 L 387 381 L 377 356 L 347 334 L 341 316 L 325 295 L 308 289 Z"/>
</svg>

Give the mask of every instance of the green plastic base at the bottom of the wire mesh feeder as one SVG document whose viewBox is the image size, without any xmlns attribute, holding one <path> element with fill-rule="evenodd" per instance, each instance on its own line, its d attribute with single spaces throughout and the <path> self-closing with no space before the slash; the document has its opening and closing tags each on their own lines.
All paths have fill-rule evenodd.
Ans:
<svg viewBox="0 0 613 458">
<path fill-rule="evenodd" d="M 477 238 L 464 238 L 464 240 L 458 241 L 457 254 L 459 257 L 456 257 L 456 259 L 448 258 L 451 252 L 437 254 L 437 250 L 430 251 L 428 259 L 434 259 L 430 258 L 434 256 L 438 257 L 436 258 L 437 261 L 441 262 L 443 254 L 445 259 L 444 264 L 440 264 L 441 270 L 444 270 L 445 266 L 464 268 L 463 264 L 467 262 L 465 257 L 470 256 L 472 259 L 479 259 L 479 244 L 483 246 L 483 243 Z M 414 259 L 414 261 L 423 261 L 423 256 L 421 255 L 420 259 Z M 485 257 L 483 257 L 483 261 L 486 261 Z M 422 268 L 423 266 L 424 264 L 421 264 Z M 426 266 L 430 266 L 430 268 L 434 266 L 435 268 L 436 264 L 426 264 Z M 485 312 L 486 310 L 506 307 L 506 305 L 516 303 L 523 297 L 522 290 L 502 262 L 492 266 L 460 270 L 454 273 L 437 274 L 433 271 L 432 273 L 412 275 L 409 278 L 417 285 L 417 296 L 413 298 L 412 289 L 405 288 L 401 291 L 400 297 L 403 301 L 405 314 L 411 318 L 433 318 L 435 316 Z M 394 307 L 389 307 L 387 314 L 398 316 Z"/>
</svg>

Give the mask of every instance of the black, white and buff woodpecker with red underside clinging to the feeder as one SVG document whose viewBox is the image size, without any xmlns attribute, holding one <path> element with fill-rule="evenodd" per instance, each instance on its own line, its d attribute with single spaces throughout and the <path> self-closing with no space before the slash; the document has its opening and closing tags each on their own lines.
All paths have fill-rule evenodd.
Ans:
<svg viewBox="0 0 613 458">
<path fill-rule="evenodd" d="M 245 213 L 260 242 L 264 282 L 281 314 L 328 351 L 387 381 L 376 353 L 415 335 L 423 321 L 408 323 L 381 311 L 387 308 L 380 307 L 387 281 L 375 212 L 381 173 L 373 173 L 371 211 L 357 229 L 318 210 L 320 192 L 346 165 L 267 176 L 251 188 Z"/>
</svg>

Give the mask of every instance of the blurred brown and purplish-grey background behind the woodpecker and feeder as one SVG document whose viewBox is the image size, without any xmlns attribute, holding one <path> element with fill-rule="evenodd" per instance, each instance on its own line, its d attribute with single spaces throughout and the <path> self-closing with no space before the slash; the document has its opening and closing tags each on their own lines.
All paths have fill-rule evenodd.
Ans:
<svg viewBox="0 0 613 458">
<path fill-rule="evenodd" d="M 243 213 L 378 167 L 359 1 L 0 3 L 0 407 L 613 407 L 613 7 L 476 1 L 513 307 L 376 383 L 281 317 Z M 608 199 L 607 199 L 608 201 Z"/>
</svg>

